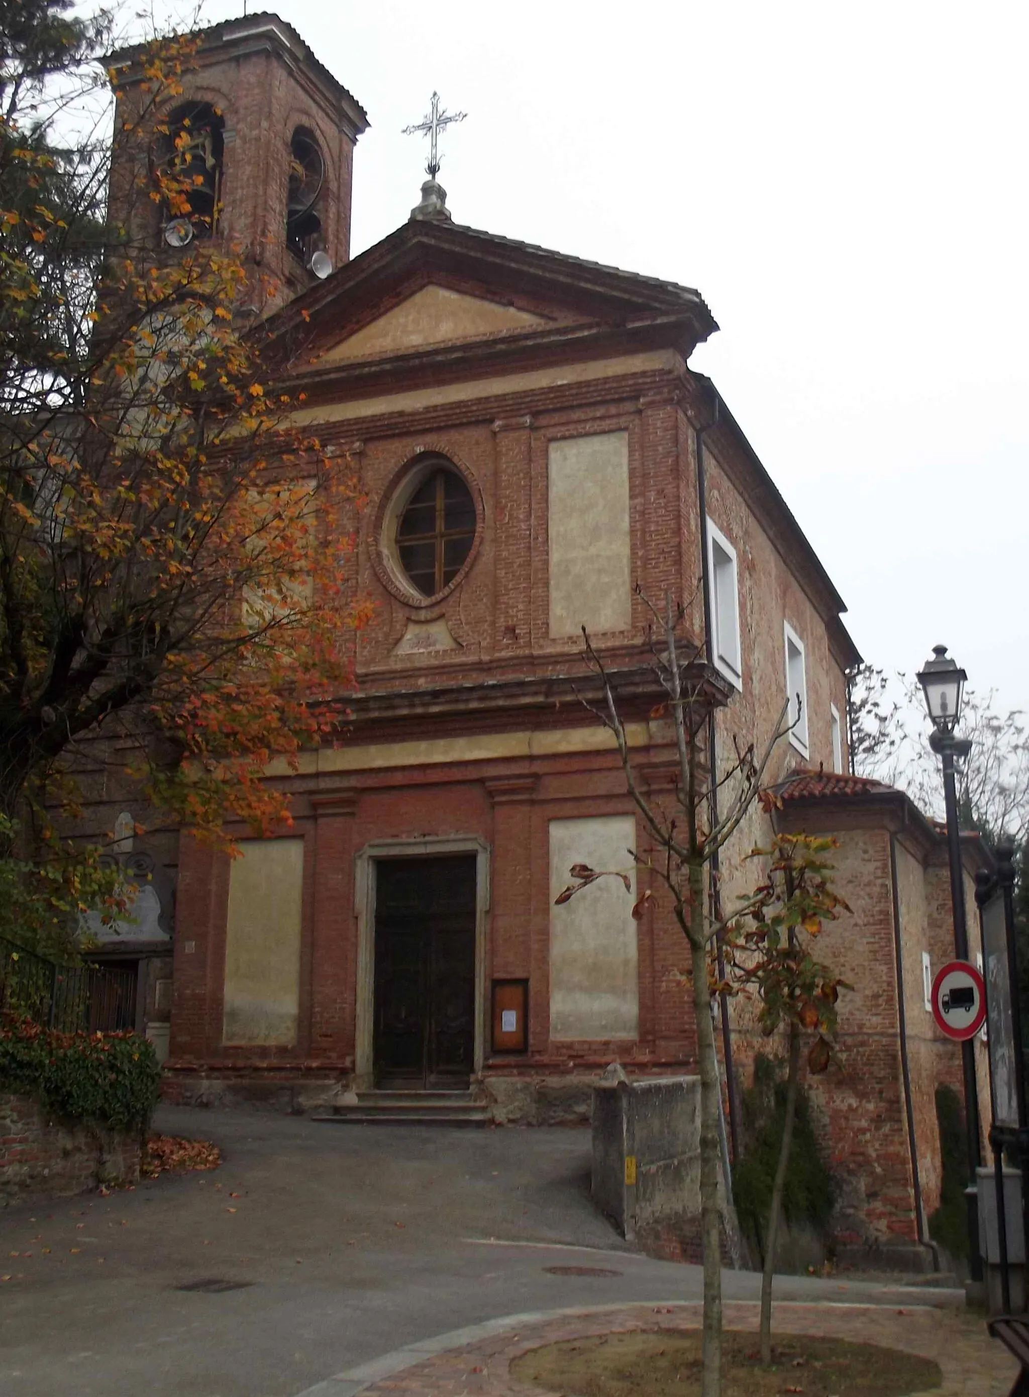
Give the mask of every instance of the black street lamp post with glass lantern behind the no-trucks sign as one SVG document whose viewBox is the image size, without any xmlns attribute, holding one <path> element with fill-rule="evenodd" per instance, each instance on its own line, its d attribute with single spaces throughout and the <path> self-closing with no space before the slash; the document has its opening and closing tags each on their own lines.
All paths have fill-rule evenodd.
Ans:
<svg viewBox="0 0 1029 1397">
<path fill-rule="evenodd" d="M 926 661 L 917 676 L 926 694 L 926 707 L 933 721 L 928 745 L 942 761 L 944 806 L 947 809 L 947 851 L 951 865 L 951 907 L 954 911 L 954 954 L 966 961 L 968 921 L 965 916 L 965 875 L 961 861 L 961 830 L 958 827 L 958 787 L 954 777 L 955 757 L 965 759 L 972 752 L 968 738 L 955 738 L 961 718 L 961 700 L 968 675 L 947 654 L 947 645 L 934 645 L 933 658 Z M 982 1164 L 979 1148 L 979 1088 L 976 1087 L 976 1053 L 973 1041 L 961 1045 L 965 1078 L 965 1134 L 968 1140 L 969 1183 L 977 1182 L 976 1169 Z M 979 1204 L 975 1193 L 968 1197 L 969 1270 L 973 1281 L 983 1278 L 979 1255 Z"/>
</svg>

